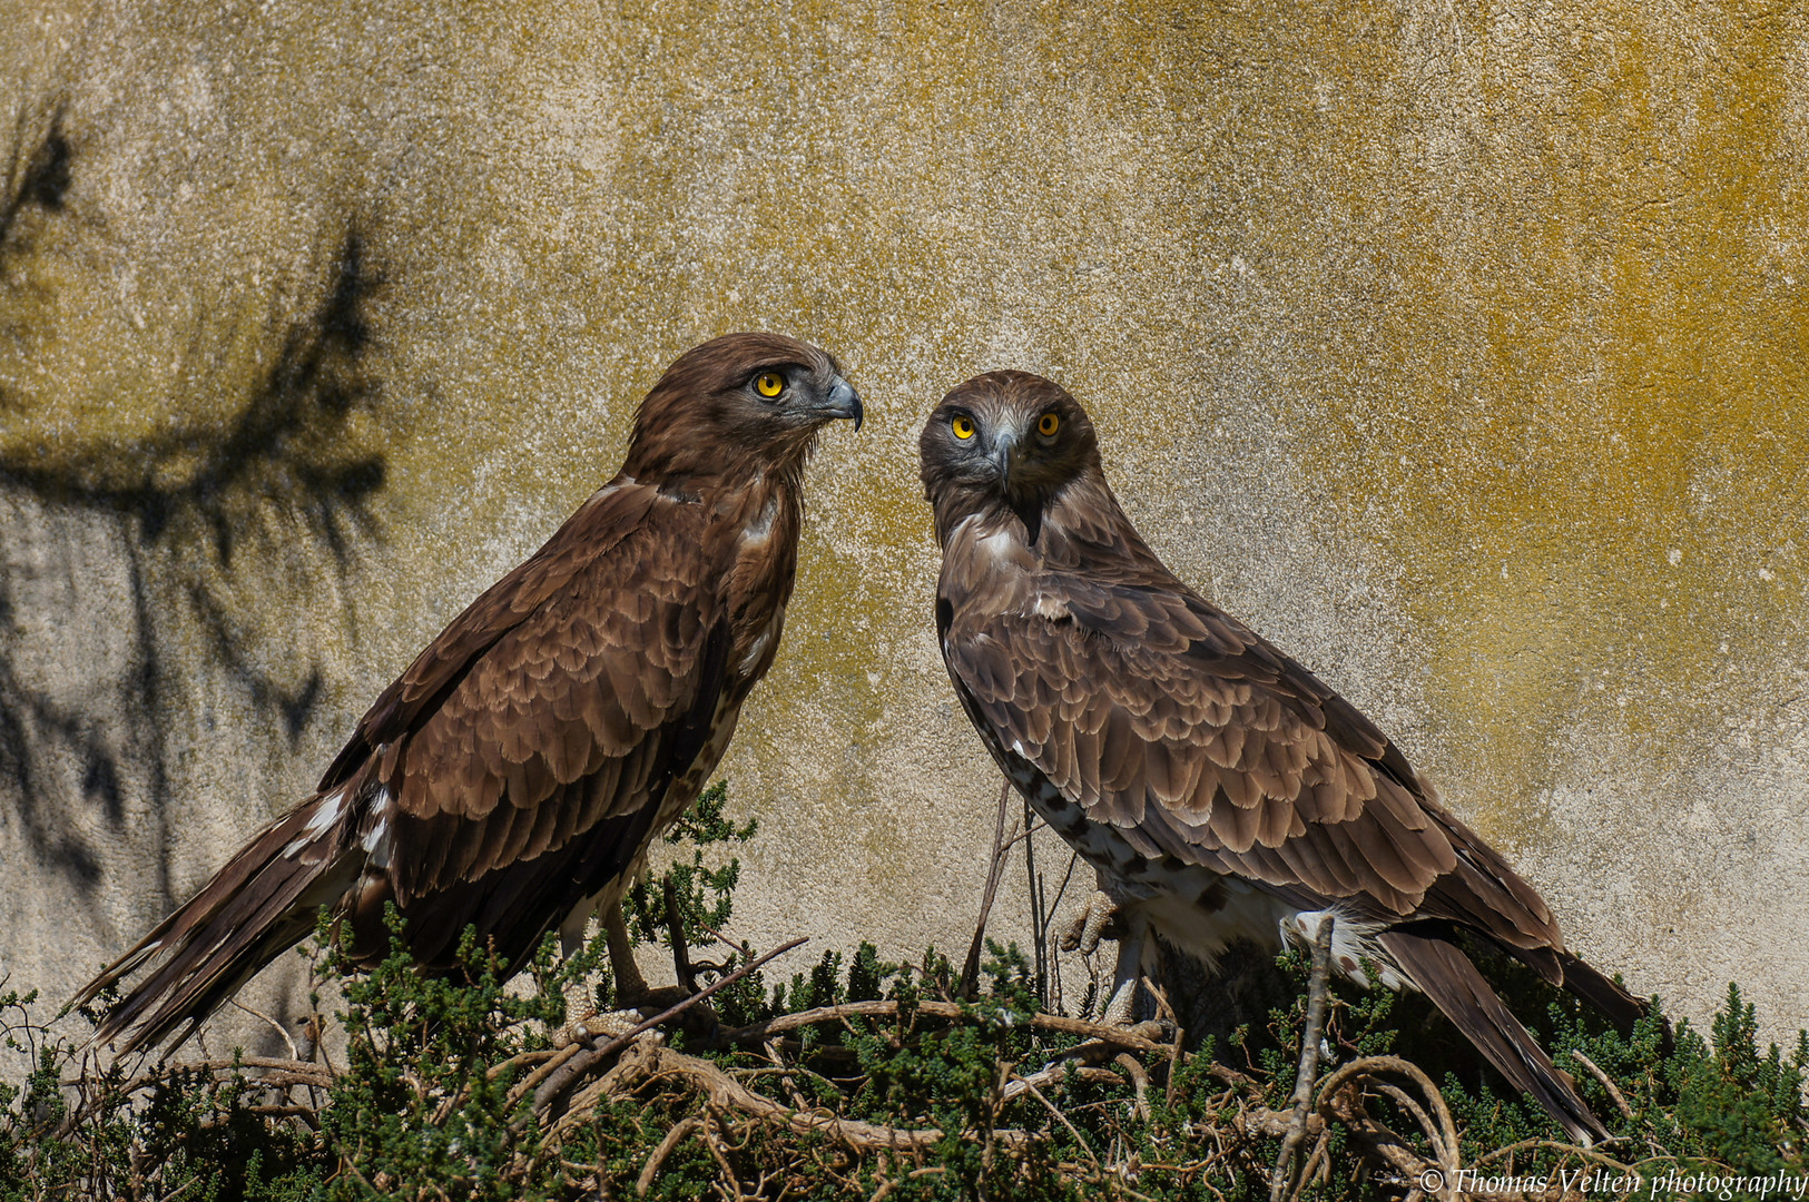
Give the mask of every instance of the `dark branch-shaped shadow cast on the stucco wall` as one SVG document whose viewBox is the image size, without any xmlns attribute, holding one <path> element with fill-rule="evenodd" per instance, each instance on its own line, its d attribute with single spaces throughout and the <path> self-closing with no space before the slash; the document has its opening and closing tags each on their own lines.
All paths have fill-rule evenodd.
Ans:
<svg viewBox="0 0 1809 1202">
<path fill-rule="evenodd" d="M 63 125 L 58 112 L 34 146 L 14 143 L 0 268 L 33 253 L 27 226 L 90 202 Z M 186 676 L 223 678 L 291 748 L 322 698 L 322 656 L 273 633 L 284 616 L 268 598 L 313 622 L 322 602 L 336 606 L 333 620 L 349 622 L 336 586 L 382 537 L 371 501 L 385 479 L 360 434 L 384 405 L 367 316 L 382 278 L 356 222 L 322 275 L 313 309 L 262 334 L 273 354 L 257 378 L 221 378 L 206 347 L 226 338 L 192 338 L 197 371 L 185 378 L 244 396 L 224 428 L 60 452 L 56 466 L 0 450 L 0 826 L 16 824 L 22 850 L 81 897 L 109 868 L 105 833 L 148 844 L 157 878 L 139 889 L 165 909 L 179 900 L 170 748 L 206 734 L 170 730 Z M 7 408 L 0 398 L 0 423 Z M 295 595 L 298 577 L 318 582 L 315 596 Z M 92 627 L 92 656 L 80 638 L 45 634 L 63 604 L 62 618 Z"/>
</svg>

